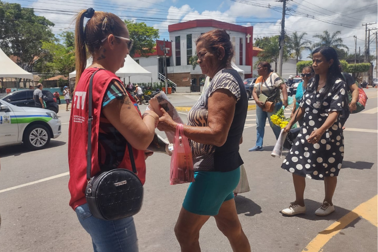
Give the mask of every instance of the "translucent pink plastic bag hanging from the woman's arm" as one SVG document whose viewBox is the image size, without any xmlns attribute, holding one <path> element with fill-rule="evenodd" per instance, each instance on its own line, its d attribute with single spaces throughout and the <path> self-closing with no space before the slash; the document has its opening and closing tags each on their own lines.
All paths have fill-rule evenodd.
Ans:
<svg viewBox="0 0 378 252">
<path fill-rule="evenodd" d="M 194 182 L 192 149 L 183 129 L 182 124 L 177 124 L 171 157 L 170 184 Z"/>
</svg>

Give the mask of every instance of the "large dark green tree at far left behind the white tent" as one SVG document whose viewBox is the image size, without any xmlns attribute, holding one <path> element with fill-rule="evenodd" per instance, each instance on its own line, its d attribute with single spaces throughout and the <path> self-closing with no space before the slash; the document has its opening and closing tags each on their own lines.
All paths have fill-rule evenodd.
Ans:
<svg viewBox="0 0 378 252">
<path fill-rule="evenodd" d="M 16 56 L 17 64 L 28 72 L 48 56 L 42 41 L 54 39 L 53 26 L 33 9 L 0 1 L 0 47 L 7 55 Z"/>
</svg>

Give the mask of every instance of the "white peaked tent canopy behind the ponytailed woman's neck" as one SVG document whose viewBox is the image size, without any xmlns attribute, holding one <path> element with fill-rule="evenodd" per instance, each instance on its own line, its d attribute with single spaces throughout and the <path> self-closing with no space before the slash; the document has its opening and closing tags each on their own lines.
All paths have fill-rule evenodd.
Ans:
<svg viewBox="0 0 378 252">
<path fill-rule="evenodd" d="M 87 59 L 87 67 L 92 65 L 92 58 Z M 124 58 L 124 66 L 120 68 L 117 72 L 115 72 L 116 76 L 121 78 L 127 78 L 130 76 L 152 76 L 151 72 L 148 72 L 143 67 L 141 67 L 131 56 L 127 56 Z M 76 77 L 76 71 L 70 73 L 70 79 Z"/>
</svg>

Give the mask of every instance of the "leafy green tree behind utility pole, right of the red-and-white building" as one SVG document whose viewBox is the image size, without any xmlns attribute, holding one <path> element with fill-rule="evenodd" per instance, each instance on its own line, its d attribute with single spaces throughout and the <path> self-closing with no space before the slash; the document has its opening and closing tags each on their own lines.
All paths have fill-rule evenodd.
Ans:
<svg viewBox="0 0 378 252">
<path fill-rule="evenodd" d="M 274 71 L 277 72 L 277 62 L 280 55 L 280 48 L 279 48 L 279 36 L 273 37 L 264 37 L 259 40 L 259 48 L 264 49 L 264 51 L 259 52 L 259 62 L 260 61 L 267 61 L 268 63 L 275 63 Z M 256 42 L 255 42 L 256 44 Z M 289 57 L 289 51 L 287 46 L 284 46 L 284 54 L 283 54 L 283 61 L 286 62 Z M 258 64 L 258 62 L 257 62 Z"/>
</svg>

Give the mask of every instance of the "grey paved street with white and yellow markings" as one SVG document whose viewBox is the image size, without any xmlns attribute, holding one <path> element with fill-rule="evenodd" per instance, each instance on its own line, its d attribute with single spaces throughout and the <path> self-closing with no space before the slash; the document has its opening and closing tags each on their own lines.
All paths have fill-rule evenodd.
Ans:
<svg viewBox="0 0 378 252">
<path fill-rule="evenodd" d="M 248 152 L 256 141 L 256 111 L 248 111 L 240 153 L 251 191 L 235 202 L 252 251 L 377 251 L 377 89 L 365 92 L 366 109 L 352 114 L 345 125 L 336 212 L 327 217 L 313 213 L 323 201 L 324 184 L 310 179 L 306 179 L 307 213 L 294 217 L 280 213 L 295 199 L 291 174 L 280 168 L 284 158 L 270 155 L 276 141 L 269 127 L 265 151 Z M 175 106 L 191 106 L 198 97 L 169 96 Z M 68 205 L 70 112 L 60 108 L 58 115 L 62 134 L 48 148 L 34 152 L 24 146 L 0 148 L 2 252 L 92 250 L 90 236 Z M 186 121 L 185 112 L 180 115 Z M 173 227 L 188 184 L 169 185 L 169 164 L 170 157 L 164 154 L 147 159 L 144 204 L 135 216 L 141 252 L 179 251 Z M 214 218 L 203 227 L 200 244 L 203 251 L 231 251 Z"/>
</svg>

